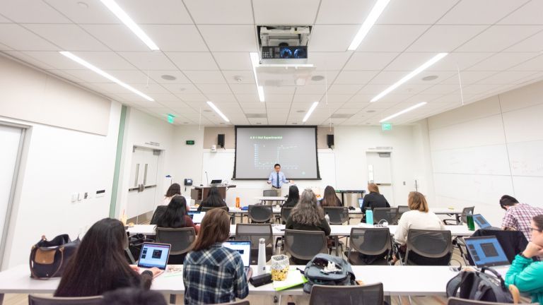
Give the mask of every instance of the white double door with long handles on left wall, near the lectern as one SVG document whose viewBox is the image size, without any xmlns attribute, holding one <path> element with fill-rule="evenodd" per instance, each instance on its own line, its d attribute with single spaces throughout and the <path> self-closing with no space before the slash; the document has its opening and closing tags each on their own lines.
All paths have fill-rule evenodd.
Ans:
<svg viewBox="0 0 543 305">
<path fill-rule="evenodd" d="M 134 146 L 129 178 L 127 218 L 129 222 L 146 222 L 153 213 L 157 197 L 158 157 L 160 150 Z"/>
</svg>

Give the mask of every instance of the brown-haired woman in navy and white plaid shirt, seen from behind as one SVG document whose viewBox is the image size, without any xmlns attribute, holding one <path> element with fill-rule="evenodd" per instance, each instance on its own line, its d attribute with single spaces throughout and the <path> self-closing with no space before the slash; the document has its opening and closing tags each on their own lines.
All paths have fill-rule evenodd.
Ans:
<svg viewBox="0 0 543 305">
<path fill-rule="evenodd" d="M 228 237 L 226 210 L 209 210 L 183 265 L 185 304 L 228 303 L 249 294 L 240 253 L 222 245 Z"/>
</svg>

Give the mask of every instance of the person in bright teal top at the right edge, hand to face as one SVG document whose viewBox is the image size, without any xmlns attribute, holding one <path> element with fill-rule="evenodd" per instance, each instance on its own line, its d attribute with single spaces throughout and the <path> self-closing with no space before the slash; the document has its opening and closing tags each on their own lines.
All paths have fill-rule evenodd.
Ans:
<svg viewBox="0 0 543 305">
<path fill-rule="evenodd" d="M 515 257 L 506 274 L 506 285 L 515 285 L 520 292 L 530 294 L 532 303 L 543 304 L 543 261 L 534 261 L 543 256 L 543 215 L 532 217 L 531 241 L 522 253 Z"/>
</svg>

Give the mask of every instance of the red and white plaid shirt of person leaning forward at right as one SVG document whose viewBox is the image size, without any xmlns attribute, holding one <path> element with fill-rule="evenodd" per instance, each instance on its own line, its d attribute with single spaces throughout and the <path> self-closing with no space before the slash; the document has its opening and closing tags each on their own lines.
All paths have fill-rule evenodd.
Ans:
<svg viewBox="0 0 543 305">
<path fill-rule="evenodd" d="M 507 209 L 501 222 L 502 227 L 511 227 L 522 232 L 528 241 L 532 240 L 532 218 L 542 215 L 542 208 L 535 208 L 526 203 L 517 203 Z"/>
</svg>

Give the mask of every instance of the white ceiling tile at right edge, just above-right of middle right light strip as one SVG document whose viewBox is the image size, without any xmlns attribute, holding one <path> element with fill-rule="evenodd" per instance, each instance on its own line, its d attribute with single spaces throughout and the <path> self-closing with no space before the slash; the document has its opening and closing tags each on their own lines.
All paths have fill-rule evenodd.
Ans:
<svg viewBox="0 0 543 305">
<path fill-rule="evenodd" d="M 540 30 L 543 30 L 541 25 L 494 25 L 455 51 L 499 52 Z"/>
</svg>

